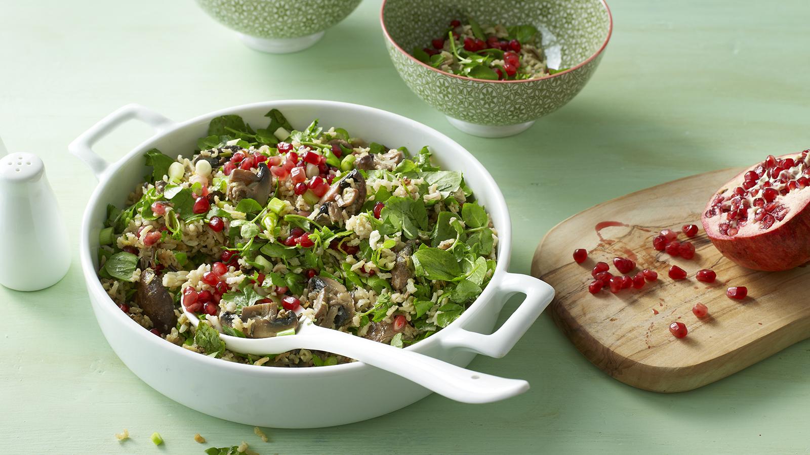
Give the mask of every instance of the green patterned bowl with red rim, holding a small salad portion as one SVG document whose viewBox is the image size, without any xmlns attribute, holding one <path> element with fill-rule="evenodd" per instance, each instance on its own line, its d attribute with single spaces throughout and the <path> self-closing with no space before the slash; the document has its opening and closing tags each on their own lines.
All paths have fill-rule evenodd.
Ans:
<svg viewBox="0 0 810 455">
<path fill-rule="evenodd" d="M 542 79 L 491 81 L 445 73 L 411 56 L 452 19 L 531 23 L 543 34 L 548 66 L 570 68 Z M 380 15 L 391 60 L 408 87 L 459 130 L 486 138 L 518 134 L 561 108 L 594 74 L 613 19 L 603 0 L 385 0 Z"/>
</svg>

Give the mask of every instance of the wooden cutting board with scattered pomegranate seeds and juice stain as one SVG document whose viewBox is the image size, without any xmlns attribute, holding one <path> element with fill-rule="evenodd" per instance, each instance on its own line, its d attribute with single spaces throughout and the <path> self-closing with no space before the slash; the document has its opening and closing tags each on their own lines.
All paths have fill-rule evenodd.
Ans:
<svg viewBox="0 0 810 455">
<path fill-rule="evenodd" d="M 680 392 L 697 389 L 810 338 L 810 270 L 785 272 L 744 269 L 727 260 L 701 227 L 689 239 L 697 248 L 692 260 L 653 249 L 663 228 L 701 226 L 700 215 L 716 189 L 740 169 L 725 169 L 655 186 L 591 207 L 552 228 L 537 247 L 531 274 L 556 289 L 549 310 L 556 325 L 593 364 L 617 380 L 639 389 Z M 678 240 L 685 240 L 680 234 Z M 582 264 L 574 249 L 588 250 Z M 659 279 L 641 290 L 591 295 L 590 270 L 596 262 L 629 257 L 637 270 L 649 268 Z M 674 281 L 669 266 L 689 272 Z M 712 269 L 718 279 L 701 283 L 697 270 Z M 730 286 L 748 287 L 745 300 L 726 296 Z M 694 304 L 709 307 L 698 319 Z M 686 338 L 669 332 L 673 321 L 689 329 Z"/>
</svg>

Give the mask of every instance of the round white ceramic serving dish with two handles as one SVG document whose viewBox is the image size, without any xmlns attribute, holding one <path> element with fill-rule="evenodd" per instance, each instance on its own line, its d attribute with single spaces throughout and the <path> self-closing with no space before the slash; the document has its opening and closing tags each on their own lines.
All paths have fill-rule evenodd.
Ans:
<svg viewBox="0 0 810 455">
<path fill-rule="evenodd" d="M 96 277 L 98 236 L 108 203 L 121 206 L 147 173 L 143 152 L 157 147 L 164 153 L 190 155 L 208 122 L 224 114 L 238 114 L 249 124 L 264 126 L 263 117 L 278 108 L 292 125 L 303 128 L 313 118 L 321 125 L 340 126 L 352 135 L 418 151 L 429 145 L 443 168 L 464 172 L 500 236 L 498 265 L 484 292 L 458 320 L 430 338 L 406 349 L 466 366 L 475 354 L 502 357 L 514 346 L 552 300 L 548 284 L 527 275 L 506 271 L 512 244 L 509 212 L 492 176 L 463 147 L 416 121 L 376 108 L 317 100 L 283 100 L 247 104 L 207 113 L 176 123 L 136 104 L 111 113 L 70 143 L 70 152 L 95 172 L 99 185 L 84 212 L 79 252 L 93 312 L 104 337 L 124 364 L 148 385 L 168 398 L 195 410 L 233 422 L 263 427 L 327 427 L 352 423 L 398 410 L 428 395 L 428 390 L 400 376 L 360 362 L 318 368 L 275 368 L 233 364 L 177 347 L 143 330 L 104 292 Z M 124 121 L 143 121 L 155 135 L 113 164 L 92 151 L 92 145 Z M 525 300 L 500 329 L 492 334 L 498 313 L 509 296 Z M 497 374 L 498 372 L 493 372 Z M 204 399 L 211 384 L 227 387 L 228 400 Z M 265 393 L 257 392 L 257 385 Z M 363 390 L 363 399 L 352 393 Z M 278 391 L 284 391 L 278 393 Z M 283 410 L 283 411 L 279 411 Z"/>
</svg>

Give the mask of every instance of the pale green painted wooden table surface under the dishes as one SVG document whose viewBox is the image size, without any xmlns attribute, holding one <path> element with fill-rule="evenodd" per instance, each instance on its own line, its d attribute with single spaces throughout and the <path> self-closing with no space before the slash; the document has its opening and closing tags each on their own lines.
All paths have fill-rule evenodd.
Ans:
<svg viewBox="0 0 810 455">
<path fill-rule="evenodd" d="M 509 269 L 527 273 L 542 234 L 588 206 L 810 143 L 810 3 L 611 6 L 612 42 L 582 94 L 526 133 L 492 140 L 454 130 L 411 94 L 384 49 L 378 1 L 366 0 L 312 49 L 277 56 L 245 48 L 193 2 L 3 2 L 0 135 L 10 150 L 43 157 L 77 239 L 95 181 L 66 144 L 122 104 L 175 120 L 260 100 L 368 104 L 432 125 L 480 159 L 509 202 L 517 245 Z M 126 125 L 100 151 L 115 159 L 147 133 Z M 92 316 L 76 242 L 73 251 L 56 286 L 0 288 L 2 453 L 202 453 L 241 440 L 259 453 L 810 450 L 810 342 L 702 389 L 663 395 L 600 372 L 548 316 L 504 359 L 471 364 L 531 381 L 518 398 L 474 406 L 433 395 L 363 423 L 268 430 L 265 444 L 251 427 L 164 398 L 122 364 Z M 113 434 L 125 427 L 132 439 L 119 444 Z M 152 445 L 152 432 L 164 446 Z M 195 443 L 197 432 L 211 444 Z"/>
</svg>

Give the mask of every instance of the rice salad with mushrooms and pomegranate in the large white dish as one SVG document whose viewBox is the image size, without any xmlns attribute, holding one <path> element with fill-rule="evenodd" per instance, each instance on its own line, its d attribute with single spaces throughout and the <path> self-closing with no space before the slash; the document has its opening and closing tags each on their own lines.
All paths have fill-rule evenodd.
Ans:
<svg viewBox="0 0 810 455">
<path fill-rule="evenodd" d="M 278 110 L 254 130 L 211 120 L 191 158 L 151 172 L 100 232 L 100 282 L 145 330 L 190 351 L 266 366 L 352 361 L 305 349 L 244 355 L 220 333 L 316 324 L 405 347 L 449 325 L 495 270 L 498 237 L 458 171 Z M 200 318 L 195 328 L 182 311 Z"/>
</svg>

